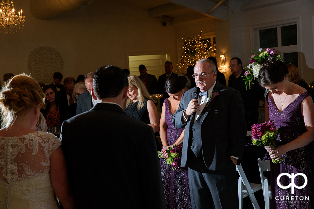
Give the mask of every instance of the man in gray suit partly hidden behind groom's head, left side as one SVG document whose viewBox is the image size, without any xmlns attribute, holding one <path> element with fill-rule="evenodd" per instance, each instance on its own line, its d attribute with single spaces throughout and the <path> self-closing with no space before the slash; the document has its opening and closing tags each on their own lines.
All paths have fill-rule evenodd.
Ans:
<svg viewBox="0 0 314 209">
<path fill-rule="evenodd" d="M 87 88 L 87 91 L 78 95 L 77 105 L 76 105 L 76 114 L 81 114 L 82 112 L 89 111 L 96 104 L 95 100 L 92 98 L 92 89 L 93 89 L 93 76 L 94 72 L 87 73 L 84 78 L 84 83 Z"/>
</svg>

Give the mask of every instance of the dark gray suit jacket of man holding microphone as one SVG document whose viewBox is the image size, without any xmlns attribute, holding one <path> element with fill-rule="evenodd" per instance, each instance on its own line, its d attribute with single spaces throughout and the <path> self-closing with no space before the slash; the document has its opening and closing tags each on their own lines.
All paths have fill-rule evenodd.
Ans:
<svg viewBox="0 0 314 209">
<path fill-rule="evenodd" d="M 187 163 L 188 154 L 192 151 L 193 134 L 201 138 L 201 150 L 206 167 L 209 170 L 221 170 L 229 156 L 242 157 L 246 139 L 246 122 L 240 92 L 216 82 L 214 90 L 219 93 L 199 116 L 200 123 L 192 121 L 192 116 L 185 122 L 183 112 L 192 99 L 193 89 L 184 92 L 178 110 L 172 121 L 175 128 L 185 128 L 181 166 Z M 194 135 L 195 136 L 195 135 Z"/>
</svg>

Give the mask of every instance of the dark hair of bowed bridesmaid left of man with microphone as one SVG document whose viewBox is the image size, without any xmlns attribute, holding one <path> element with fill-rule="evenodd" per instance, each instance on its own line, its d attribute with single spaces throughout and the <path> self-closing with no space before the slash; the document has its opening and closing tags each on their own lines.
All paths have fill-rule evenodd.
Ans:
<svg viewBox="0 0 314 209">
<path fill-rule="evenodd" d="M 175 94 L 185 88 L 187 78 L 184 76 L 171 75 L 168 76 L 165 82 L 165 89 L 170 94 Z"/>
</svg>

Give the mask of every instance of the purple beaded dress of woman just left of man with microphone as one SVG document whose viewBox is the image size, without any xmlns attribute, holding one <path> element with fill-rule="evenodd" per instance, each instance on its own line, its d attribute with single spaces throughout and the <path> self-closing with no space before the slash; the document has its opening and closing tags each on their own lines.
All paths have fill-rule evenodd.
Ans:
<svg viewBox="0 0 314 209">
<path fill-rule="evenodd" d="M 184 128 L 174 128 L 172 114 L 169 110 L 168 99 L 165 99 L 165 121 L 168 144 L 174 144 Z M 167 209 L 190 209 L 191 198 L 187 169 L 173 170 L 166 159 L 160 158 L 161 178 L 164 183 L 164 192 Z"/>
</svg>

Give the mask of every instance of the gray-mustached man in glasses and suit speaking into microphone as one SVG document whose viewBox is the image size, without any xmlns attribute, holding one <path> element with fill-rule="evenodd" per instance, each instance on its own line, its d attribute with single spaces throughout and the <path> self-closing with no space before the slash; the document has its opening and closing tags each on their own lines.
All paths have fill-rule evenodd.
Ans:
<svg viewBox="0 0 314 209">
<path fill-rule="evenodd" d="M 213 61 L 197 62 L 193 77 L 201 96 L 192 99 L 193 89 L 184 92 L 172 119 L 175 128 L 185 127 L 181 166 L 189 167 L 194 209 L 238 207 L 236 163 L 246 139 L 244 108 L 240 92 L 220 85 L 216 73 Z"/>
</svg>

